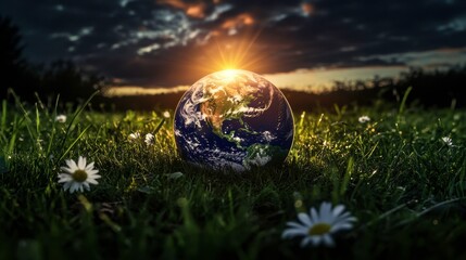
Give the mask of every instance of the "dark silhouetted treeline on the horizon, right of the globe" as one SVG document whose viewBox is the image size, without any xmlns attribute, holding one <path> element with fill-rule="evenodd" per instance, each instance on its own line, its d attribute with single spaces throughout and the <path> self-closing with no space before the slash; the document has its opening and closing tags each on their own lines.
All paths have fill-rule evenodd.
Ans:
<svg viewBox="0 0 466 260">
<path fill-rule="evenodd" d="M 406 91 L 407 104 L 418 104 L 424 107 L 465 107 L 466 106 L 466 65 L 451 66 L 443 69 L 425 70 L 411 67 L 401 73 L 399 78 L 375 77 L 369 81 L 335 82 L 331 91 L 320 94 L 310 94 L 306 98 L 291 98 L 300 109 L 310 108 L 314 104 L 330 107 L 333 104 L 373 105 L 377 101 L 399 103 Z"/>
</svg>

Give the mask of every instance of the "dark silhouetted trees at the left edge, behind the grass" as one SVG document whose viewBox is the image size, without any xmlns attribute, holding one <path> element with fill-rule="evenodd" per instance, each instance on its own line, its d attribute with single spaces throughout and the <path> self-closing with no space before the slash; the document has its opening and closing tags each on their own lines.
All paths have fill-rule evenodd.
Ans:
<svg viewBox="0 0 466 260">
<path fill-rule="evenodd" d="M 55 99 L 61 102 L 80 102 L 105 87 L 103 77 L 83 72 L 71 61 L 49 65 L 33 65 L 22 55 L 20 29 L 8 17 L 0 17 L 0 99 L 9 99 L 9 89 L 23 101 Z"/>
</svg>

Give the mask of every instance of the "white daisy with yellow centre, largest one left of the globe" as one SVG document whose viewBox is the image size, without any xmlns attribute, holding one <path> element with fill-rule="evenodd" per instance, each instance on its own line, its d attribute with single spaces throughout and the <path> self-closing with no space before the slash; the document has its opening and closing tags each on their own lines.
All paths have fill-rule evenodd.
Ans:
<svg viewBox="0 0 466 260">
<path fill-rule="evenodd" d="M 59 183 L 64 183 L 63 188 L 65 191 L 70 190 L 70 193 L 83 192 L 83 187 L 89 191 L 89 184 L 99 184 L 96 181 L 100 178 L 97 174 L 99 170 L 93 168 L 93 162 L 86 165 L 86 157 L 79 156 L 77 165 L 73 159 L 65 161 L 67 167 L 61 167 L 60 169 L 64 172 L 59 174 Z"/>
</svg>

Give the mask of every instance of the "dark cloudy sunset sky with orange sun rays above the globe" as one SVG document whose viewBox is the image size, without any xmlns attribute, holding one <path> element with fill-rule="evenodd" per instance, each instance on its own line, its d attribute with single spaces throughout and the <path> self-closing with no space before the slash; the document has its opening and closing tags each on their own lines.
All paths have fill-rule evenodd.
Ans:
<svg viewBox="0 0 466 260">
<path fill-rule="evenodd" d="M 70 58 L 128 93 L 185 90 L 225 68 L 279 88 L 466 64 L 458 0 L 17 0 L 25 57 Z"/>
</svg>

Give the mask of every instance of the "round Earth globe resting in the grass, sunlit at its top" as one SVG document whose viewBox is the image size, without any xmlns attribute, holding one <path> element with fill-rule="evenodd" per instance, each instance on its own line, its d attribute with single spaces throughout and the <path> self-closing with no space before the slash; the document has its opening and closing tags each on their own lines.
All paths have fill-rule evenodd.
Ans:
<svg viewBox="0 0 466 260">
<path fill-rule="evenodd" d="M 282 164 L 293 143 L 287 99 L 264 77 L 240 69 L 210 74 L 182 95 L 175 142 L 185 160 L 244 171 Z"/>
</svg>

